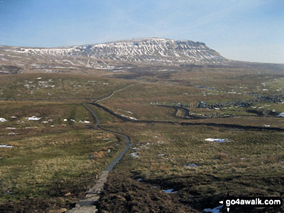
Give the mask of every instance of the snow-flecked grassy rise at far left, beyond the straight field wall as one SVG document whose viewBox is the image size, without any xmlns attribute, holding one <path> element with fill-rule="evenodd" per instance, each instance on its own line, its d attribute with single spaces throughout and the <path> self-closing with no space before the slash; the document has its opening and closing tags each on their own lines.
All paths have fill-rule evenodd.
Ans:
<svg viewBox="0 0 284 213">
<path fill-rule="evenodd" d="M 1 75 L 0 99 L 96 98 L 121 88 L 124 84 L 128 83 L 75 74 Z"/>
</svg>

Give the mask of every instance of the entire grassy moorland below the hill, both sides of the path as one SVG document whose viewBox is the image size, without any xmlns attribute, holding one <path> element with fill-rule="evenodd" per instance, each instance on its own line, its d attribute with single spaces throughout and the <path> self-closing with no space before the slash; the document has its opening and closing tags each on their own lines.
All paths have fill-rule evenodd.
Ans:
<svg viewBox="0 0 284 213">
<path fill-rule="evenodd" d="M 0 148 L 0 210 L 68 209 L 84 196 L 123 141 L 95 129 L 82 106 L 86 100 L 75 98 L 92 102 L 112 91 L 98 104 L 128 118 L 175 123 L 125 121 L 90 105 L 102 127 L 132 141 L 105 185 L 101 212 L 201 212 L 218 206 L 226 187 L 235 196 L 279 196 L 284 135 L 265 128 L 284 128 L 278 117 L 284 112 L 283 79 L 281 71 L 252 68 L 1 75 L 0 98 L 17 100 L 0 102 L 0 117 L 7 119 L 0 123 L 0 145 L 14 146 Z M 27 121 L 31 116 L 41 119 Z"/>
</svg>

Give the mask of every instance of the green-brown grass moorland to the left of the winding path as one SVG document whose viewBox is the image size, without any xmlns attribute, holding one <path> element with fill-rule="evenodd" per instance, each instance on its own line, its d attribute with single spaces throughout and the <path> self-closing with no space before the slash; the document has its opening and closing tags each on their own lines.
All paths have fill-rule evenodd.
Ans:
<svg viewBox="0 0 284 213">
<path fill-rule="evenodd" d="M 56 82 L 62 79 L 65 86 L 89 84 L 90 79 L 102 81 L 72 75 L 39 75 Z M 24 94 L 22 84 L 36 78 L 39 76 L 31 74 L 1 76 L 3 97 L 15 98 L 17 93 Z M 18 84 L 13 85 L 14 90 L 8 96 L 5 87 L 12 82 Z M 109 86 L 97 86 L 98 90 L 94 86 L 88 94 L 85 89 L 78 89 L 78 96 L 107 95 L 122 84 Z M 61 89 L 54 90 L 60 92 Z M 46 97 L 45 92 L 45 86 L 40 87 L 38 97 Z M 72 90 L 65 92 L 63 98 L 74 95 Z M 34 97 L 29 94 L 24 98 Z M 123 148 L 123 141 L 120 142 L 117 136 L 94 128 L 91 114 L 81 104 L 83 100 L 58 98 L 53 102 L 0 101 L 0 117 L 7 120 L 0 122 L 0 145 L 13 146 L 0 147 L 0 212 L 48 212 L 71 208 L 75 201 L 85 196 L 85 191 L 96 182 L 97 175 Z M 41 119 L 28 120 L 32 116 Z"/>
</svg>

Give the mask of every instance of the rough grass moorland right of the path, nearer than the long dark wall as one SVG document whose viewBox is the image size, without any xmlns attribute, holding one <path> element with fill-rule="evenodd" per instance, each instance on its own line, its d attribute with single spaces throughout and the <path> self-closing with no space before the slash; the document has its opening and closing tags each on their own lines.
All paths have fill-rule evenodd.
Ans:
<svg viewBox="0 0 284 213">
<path fill-rule="evenodd" d="M 104 120 L 105 113 L 96 112 Z M 191 208 L 201 211 L 218 206 L 226 187 L 234 196 L 279 196 L 283 192 L 283 132 L 119 121 L 102 126 L 123 129 L 132 139 L 128 154 L 138 155 L 125 156 L 111 177 L 100 204 L 108 212 L 127 208 L 150 212 L 152 207 L 141 200 L 148 202 L 147 193 L 166 205 L 179 200 L 179 208 L 190 206 L 182 211 L 194 212 Z M 207 142 L 207 138 L 228 141 Z M 114 190 L 122 187 L 121 182 L 131 184 L 124 186 L 126 191 Z M 164 198 L 161 189 L 178 193 Z M 119 204 L 112 205 L 110 199 L 115 198 Z"/>
</svg>

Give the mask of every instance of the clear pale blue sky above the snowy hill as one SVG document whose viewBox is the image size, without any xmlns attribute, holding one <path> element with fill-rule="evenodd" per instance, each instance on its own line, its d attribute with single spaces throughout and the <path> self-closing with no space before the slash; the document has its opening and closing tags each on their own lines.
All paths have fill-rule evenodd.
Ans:
<svg viewBox="0 0 284 213">
<path fill-rule="evenodd" d="M 159 37 L 284 63 L 284 0 L 0 0 L 0 45 L 56 47 Z"/>
</svg>

